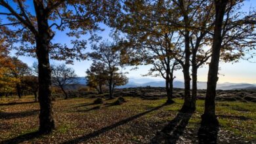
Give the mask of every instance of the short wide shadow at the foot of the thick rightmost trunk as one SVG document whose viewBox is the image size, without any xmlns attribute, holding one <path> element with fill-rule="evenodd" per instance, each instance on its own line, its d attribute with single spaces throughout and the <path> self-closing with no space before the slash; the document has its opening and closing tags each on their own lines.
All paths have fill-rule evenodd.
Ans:
<svg viewBox="0 0 256 144">
<path fill-rule="evenodd" d="M 199 143 L 217 143 L 219 124 L 201 124 L 198 130 Z"/>
</svg>

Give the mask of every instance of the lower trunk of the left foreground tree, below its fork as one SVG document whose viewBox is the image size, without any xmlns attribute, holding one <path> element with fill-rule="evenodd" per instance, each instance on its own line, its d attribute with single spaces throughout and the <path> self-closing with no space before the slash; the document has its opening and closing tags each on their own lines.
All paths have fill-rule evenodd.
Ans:
<svg viewBox="0 0 256 144">
<path fill-rule="evenodd" d="M 38 58 L 38 81 L 39 81 L 39 104 L 40 104 L 40 126 L 42 133 L 52 132 L 55 128 L 53 105 L 51 103 L 51 67 L 49 63 L 49 51 L 47 43 L 43 40 L 37 42 Z"/>
</svg>

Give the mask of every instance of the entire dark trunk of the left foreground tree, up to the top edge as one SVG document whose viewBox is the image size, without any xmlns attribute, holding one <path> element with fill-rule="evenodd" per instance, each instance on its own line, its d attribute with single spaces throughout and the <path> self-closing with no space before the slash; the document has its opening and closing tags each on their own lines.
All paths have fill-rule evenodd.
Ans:
<svg viewBox="0 0 256 144">
<path fill-rule="evenodd" d="M 53 104 L 51 103 L 51 67 L 49 63 L 49 44 L 52 37 L 43 3 L 35 0 L 33 3 L 37 15 L 38 27 L 38 34 L 35 36 L 35 40 L 38 59 L 39 132 L 48 134 L 55 128 Z"/>
</svg>

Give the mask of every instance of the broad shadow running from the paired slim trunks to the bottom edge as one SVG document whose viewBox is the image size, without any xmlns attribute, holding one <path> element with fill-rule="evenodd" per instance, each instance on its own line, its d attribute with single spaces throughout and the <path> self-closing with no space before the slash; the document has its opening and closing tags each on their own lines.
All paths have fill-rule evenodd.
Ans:
<svg viewBox="0 0 256 144">
<path fill-rule="evenodd" d="M 177 143 L 180 135 L 183 134 L 192 113 L 179 112 L 167 126 L 156 134 L 151 143 Z"/>
</svg>

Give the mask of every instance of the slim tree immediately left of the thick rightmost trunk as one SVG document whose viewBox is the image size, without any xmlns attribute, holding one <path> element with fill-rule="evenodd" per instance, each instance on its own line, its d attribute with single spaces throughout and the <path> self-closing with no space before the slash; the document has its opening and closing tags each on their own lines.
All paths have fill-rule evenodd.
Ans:
<svg viewBox="0 0 256 144">
<path fill-rule="evenodd" d="M 196 14 L 191 20 L 190 49 L 192 53 L 192 97 L 191 109 L 196 110 L 198 91 L 198 68 L 211 57 L 211 34 L 213 33 L 214 9 L 212 1 L 200 1 L 195 5 Z M 192 14 L 192 13 L 191 13 Z"/>
</svg>

